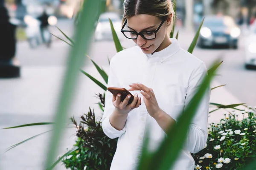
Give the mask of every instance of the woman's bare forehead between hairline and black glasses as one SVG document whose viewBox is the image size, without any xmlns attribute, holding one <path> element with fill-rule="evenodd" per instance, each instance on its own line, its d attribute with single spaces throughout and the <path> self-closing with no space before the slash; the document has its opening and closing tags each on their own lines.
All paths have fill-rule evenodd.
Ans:
<svg viewBox="0 0 256 170">
<path fill-rule="evenodd" d="M 158 26 L 160 22 L 159 17 L 148 14 L 140 14 L 127 19 L 127 26 L 133 28 L 135 31 L 141 31 L 150 26 Z M 156 28 L 154 27 L 154 28 Z"/>
</svg>

